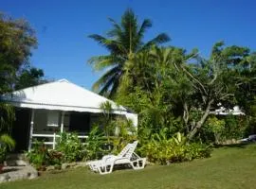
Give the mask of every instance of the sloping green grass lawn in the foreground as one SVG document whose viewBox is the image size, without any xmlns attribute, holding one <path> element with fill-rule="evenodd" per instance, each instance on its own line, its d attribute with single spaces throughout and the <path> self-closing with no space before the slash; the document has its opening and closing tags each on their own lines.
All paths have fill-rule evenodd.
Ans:
<svg viewBox="0 0 256 189">
<path fill-rule="evenodd" d="M 101 176 L 86 168 L 46 173 L 36 180 L 0 184 L 2 189 L 171 189 L 255 188 L 256 145 L 220 147 L 211 158 L 190 163 L 147 166 L 143 170 L 121 170 Z"/>
</svg>

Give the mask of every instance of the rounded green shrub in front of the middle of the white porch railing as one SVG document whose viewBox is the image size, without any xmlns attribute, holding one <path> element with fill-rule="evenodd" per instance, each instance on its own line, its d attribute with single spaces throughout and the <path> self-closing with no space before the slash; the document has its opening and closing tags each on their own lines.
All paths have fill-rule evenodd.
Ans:
<svg viewBox="0 0 256 189">
<path fill-rule="evenodd" d="M 61 133 L 56 150 L 63 153 L 64 163 L 81 161 L 85 156 L 84 145 L 76 133 Z"/>
</svg>

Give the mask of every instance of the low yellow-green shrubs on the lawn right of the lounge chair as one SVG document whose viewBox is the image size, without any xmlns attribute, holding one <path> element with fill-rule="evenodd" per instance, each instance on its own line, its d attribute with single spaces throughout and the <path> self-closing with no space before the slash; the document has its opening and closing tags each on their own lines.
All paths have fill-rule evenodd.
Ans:
<svg viewBox="0 0 256 189">
<path fill-rule="evenodd" d="M 177 132 L 168 138 L 165 129 L 155 133 L 148 142 L 141 146 L 140 153 L 152 163 L 176 163 L 210 157 L 210 146 L 199 143 L 186 143 L 186 137 Z"/>
</svg>

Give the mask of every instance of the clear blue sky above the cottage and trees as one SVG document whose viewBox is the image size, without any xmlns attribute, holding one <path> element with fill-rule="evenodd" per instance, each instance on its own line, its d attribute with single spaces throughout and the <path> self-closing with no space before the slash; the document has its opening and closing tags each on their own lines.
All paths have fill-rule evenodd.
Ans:
<svg viewBox="0 0 256 189">
<path fill-rule="evenodd" d="M 255 0 L 0 0 L 0 5 L 0 11 L 27 19 L 36 30 L 33 66 L 44 69 L 48 78 L 67 78 L 87 89 L 101 76 L 87 60 L 106 53 L 87 36 L 105 34 L 111 28 L 107 18 L 119 21 L 128 7 L 139 20 L 153 21 L 146 40 L 166 32 L 171 45 L 188 51 L 197 47 L 203 56 L 221 40 L 256 51 Z"/>
</svg>

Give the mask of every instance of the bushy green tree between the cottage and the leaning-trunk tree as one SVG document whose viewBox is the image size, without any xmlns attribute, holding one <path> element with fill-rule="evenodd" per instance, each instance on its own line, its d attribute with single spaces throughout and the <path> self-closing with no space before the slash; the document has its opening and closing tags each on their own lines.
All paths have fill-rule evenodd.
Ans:
<svg viewBox="0 0 256 189">
<path fill-rule="evenodd" d="M 180 102 L 190 82 L 174 62 L 186 59 L 183 49 L 152 46 L 127 61 L 117 100 L 139 114 L 140 129 L 180 131 Z"/>
</svg>

